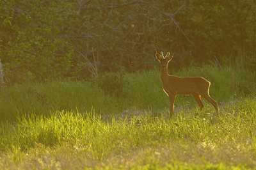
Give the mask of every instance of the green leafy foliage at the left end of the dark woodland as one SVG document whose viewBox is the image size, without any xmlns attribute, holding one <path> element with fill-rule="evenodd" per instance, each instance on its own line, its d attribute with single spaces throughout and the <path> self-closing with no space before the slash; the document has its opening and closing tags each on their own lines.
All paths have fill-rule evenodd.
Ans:
<svg viewBox="0 0 256 170">
<path fill-rule="evenodd" d="M 17 20 L 6 15 L 2 23 L 4 28 L 12 30 L 12 39 L 3 39 L 4 50 L 0 52 L 8 84 L 72 77 L 79 66 L 74 68 L 72 45 L 58 37 L 63 29 L 61 16 L 55 9 L 58 4 L 52 3 L 47 8 L 41 1 L 27 3 L 13 5 L 28 8 L 28 13 L 19 13 L 15 16 Z"/>
</svg>

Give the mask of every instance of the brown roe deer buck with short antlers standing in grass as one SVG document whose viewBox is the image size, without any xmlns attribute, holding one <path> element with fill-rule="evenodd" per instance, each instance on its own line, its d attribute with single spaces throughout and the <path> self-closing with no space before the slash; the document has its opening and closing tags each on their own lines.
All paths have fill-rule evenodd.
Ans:
<svg viewBox="0 0 256 170">
<path fill-rule="evenodd" d="M 204 104 L 200 98 L 203 97 L 207 100 L 219 113 L 217 102 L 215 102 L 209 95 L 209 87 L 211 82 L 205 80 L 203 77 L 177 77 L 174 75 L 168 75 L 168 63 L 173 58 L 173 54 L 167 52 L 167 55 L 163 56 L 163 52 L 156 53 L 156 59 L 161 64 L 161 81 L 163 82 L 164 92 L 170 98 L 170 114 L 174 116 L 174 100 L 176 95 L 192 95 L 196 103 L 200 107 L 200 112 L 204 108 Z"/>
</svg>

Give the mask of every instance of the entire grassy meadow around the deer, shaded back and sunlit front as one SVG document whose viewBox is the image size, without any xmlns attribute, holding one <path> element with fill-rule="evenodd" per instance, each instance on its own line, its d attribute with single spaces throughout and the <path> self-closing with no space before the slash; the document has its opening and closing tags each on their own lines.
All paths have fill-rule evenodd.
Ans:
<svg viewBox="0 0 256 170">
<path fill-rule="evenodd" d="M 1 89 L 0 169 L 256 169 L 255 71 L 171 74 L 211 81 L 220 117 L 190 95 L 170 119 L 157 69 Z"/>
</svg>

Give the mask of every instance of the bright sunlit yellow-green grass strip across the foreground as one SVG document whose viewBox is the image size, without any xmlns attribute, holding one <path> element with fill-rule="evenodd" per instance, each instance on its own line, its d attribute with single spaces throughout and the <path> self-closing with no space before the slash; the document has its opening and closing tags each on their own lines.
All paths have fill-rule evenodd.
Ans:
<svg viewBox="0 0 256 170">
<path fill-rule="evenodd" d="M 157 117 L 147 111 L 106 117 L 52 112 L 47 119 L 2 124 L 0 169 L 193 167 L 223 162 L 255 167 L 255 98 L 232 100 L 221 110 L 218 117 L 207 112 L 193 116 L 187 109 L 174 120 L 165 112 Z"/>
</svg>

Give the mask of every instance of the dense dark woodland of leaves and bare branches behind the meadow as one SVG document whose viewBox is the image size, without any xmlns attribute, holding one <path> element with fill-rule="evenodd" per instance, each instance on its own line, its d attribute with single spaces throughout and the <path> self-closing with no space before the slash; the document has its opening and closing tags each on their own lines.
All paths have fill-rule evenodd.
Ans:
<svg viewBox="0 0 256 170">
<path fill-rule="evenodd" d="M 255 70 L 254 1 L 0 1 L 0 58 L 9 85 L 243 57 Z M 137 64 L 134 66 L 134 61 Z"/>
</svg>

